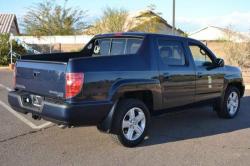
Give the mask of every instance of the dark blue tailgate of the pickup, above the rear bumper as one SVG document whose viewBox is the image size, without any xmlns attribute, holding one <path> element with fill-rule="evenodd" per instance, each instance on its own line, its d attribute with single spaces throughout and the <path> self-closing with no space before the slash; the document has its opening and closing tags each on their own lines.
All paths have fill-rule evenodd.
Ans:
<svg viewBox="0 0 250 166">
<path fill-rule="evenodd" d="M 41 96 L 64 97 L 67 63 L 19 60 L 16 89 Z"/>
</svg>

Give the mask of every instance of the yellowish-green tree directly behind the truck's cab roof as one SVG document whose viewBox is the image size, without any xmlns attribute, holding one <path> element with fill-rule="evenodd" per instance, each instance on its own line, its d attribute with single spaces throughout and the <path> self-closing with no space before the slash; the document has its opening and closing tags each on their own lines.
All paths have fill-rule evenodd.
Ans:
<svg viewBox="0 0 250 166">
<path fill-rule="evenodd" d="M 128 11 L 107 7 L 103 10 L 102 16 L 90 27 L 87 34 L 101 34 L 110 32 L 125 31 L 125 23 L 128 18 Z"/>
</svg>

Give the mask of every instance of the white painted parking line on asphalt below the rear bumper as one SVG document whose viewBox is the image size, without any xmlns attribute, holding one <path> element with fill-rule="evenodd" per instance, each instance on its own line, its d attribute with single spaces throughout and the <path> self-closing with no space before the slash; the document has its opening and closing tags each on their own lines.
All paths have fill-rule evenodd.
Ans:
<svg viewBox="0 0 250 166">
<path fill-rule="evenodd" d="M 3 106 L 7 111 L 9 111 L 10 113 L 12 113 L 15 117 L 17 117 L 18 119 L 20 119 L 22 122 L 24 122 L 25 124 L 27 124 L 28 126 L 30 126 L 32 129 L 35 130 L 40 130 L 42 128 L 48 127 L 49 125 L 51 125 L 51 122 L 46 122 L 40 126 L 35 125 L 34 123 L 32 123 L 31 121 L 29 121 L 28 119 L 26 119 L 25 117 L 23 117 L 22 115 L 18 114 L 16 111 L 14 111 L 12 108 L 10 108 L 7 104 L 5 104 L 3 101 L 0 100 L 0 105 Z"/>
</svg>

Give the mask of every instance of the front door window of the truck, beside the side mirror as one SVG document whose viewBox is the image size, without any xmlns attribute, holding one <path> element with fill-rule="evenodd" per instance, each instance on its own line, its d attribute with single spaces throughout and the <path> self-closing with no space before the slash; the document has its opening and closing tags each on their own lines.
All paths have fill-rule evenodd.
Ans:
<svg viewBox="0 0 250 166">
<path fill-rule="evenodd" d="M 207 52 L 198 45 L 189 45 L 196 66 L 206 66 L 212 63 Z"/>
</svg>

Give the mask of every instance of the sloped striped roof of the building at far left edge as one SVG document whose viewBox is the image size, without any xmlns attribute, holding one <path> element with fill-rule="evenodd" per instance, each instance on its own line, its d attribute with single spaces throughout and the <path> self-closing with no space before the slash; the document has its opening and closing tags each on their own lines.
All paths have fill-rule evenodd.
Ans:
<svg viewBox="0 0 250 166">
<path fill-rule="evenodd" d="M 14 14 L 0 14 L 0 34 L 19 35 L 19 28 L 17 24 L 16 15 Z"/>
</svg>

